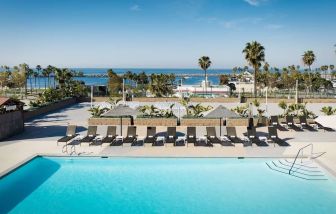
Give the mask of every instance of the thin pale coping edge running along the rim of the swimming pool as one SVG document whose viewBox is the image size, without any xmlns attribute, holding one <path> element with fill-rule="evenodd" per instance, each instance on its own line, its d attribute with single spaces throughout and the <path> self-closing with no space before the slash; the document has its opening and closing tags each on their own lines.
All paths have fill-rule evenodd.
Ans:
<svg viewBox="0 0 336 214">
<path fill-rule="evenodd" d="M 250 158 L 250 159 L 260 159 L 260 158 L 265 158 L 265 159 L 280 159 L 280 158 L 295 158 L 293 155 L 284 155 L 284 156 L 273 156 L 273 157 L 266 157 L 266 156 L 225 156 L 225 157 L 220 157 L 220 156 L 134 156 L 134 155 L 82 155 L 82 156 L 71 156 L 71 155 L 62 155 L 62 154 L 48 154 L 48 153 L 38 153 L 35 155 L 31 155 L 30 157 L 16 163 L 12 167 L 9 167 L 8 169 L 4 170 L 3 172 L 0 173 L 0 180 L 3 179 L 4 177 L 10 175 L 12 172 L 15 170 L 19 169 L 20 167 L 25 166 L 28 164 L 30 161 L 34 160 L 35 158 L 39 157 L 64 157 L 64 158 Z M 305 155 L 303 158 L 308 158 L 309 156 Z M 328 173 L 330 173 L 332 176 L 336 178 L 336 172 L 333 171 L 331 168 L 327 167 L 325 164 L 323 164 L 321 161 L 318 161 L 317 159 L 314 159 L 315 163 L 317 163 L 321 168 L 326 170 Z"/>
</svg>

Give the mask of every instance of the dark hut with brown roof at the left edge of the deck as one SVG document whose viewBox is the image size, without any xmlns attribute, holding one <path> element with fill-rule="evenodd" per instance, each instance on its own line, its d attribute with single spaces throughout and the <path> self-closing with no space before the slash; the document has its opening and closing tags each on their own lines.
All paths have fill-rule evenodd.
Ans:
<svg viewBox="0 0 336 214">
<path fill-rule="evenodd" d="M 0 140 L 23 132 L 23 105 L 16 99 L 0 97 Z"/>
</svg>

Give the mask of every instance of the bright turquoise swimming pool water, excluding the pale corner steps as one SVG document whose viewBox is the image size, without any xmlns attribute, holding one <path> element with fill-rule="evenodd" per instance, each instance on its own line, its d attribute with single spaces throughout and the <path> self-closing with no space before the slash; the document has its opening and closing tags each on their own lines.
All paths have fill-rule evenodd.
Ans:
<svg viewBox="0 0 336 214">
<path fill-rule="evenodd" d="M 0 179 L 0 213 L 336 213 L 336 181 L 267 159 L 39 157 Z"/>
</svg>

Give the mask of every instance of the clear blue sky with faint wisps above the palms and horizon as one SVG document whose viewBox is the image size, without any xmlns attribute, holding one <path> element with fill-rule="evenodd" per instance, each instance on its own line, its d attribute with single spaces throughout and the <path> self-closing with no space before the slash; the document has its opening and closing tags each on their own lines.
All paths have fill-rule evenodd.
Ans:
<svg viewBox="0 0 336 214">
<path fill-rule="evenodd" d="M 257 40 L 271 66 L 336 64 L 335 0 L 0 0 L 0 64 L 113 68 L 244 66 Z"/>
</svg>

